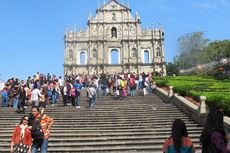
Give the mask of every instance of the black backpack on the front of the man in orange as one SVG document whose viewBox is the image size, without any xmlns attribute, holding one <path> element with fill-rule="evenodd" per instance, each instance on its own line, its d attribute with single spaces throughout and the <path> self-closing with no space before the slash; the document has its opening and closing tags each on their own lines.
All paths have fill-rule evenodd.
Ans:
<svg viewBox="0 0 230 153">
<path fill-rule="evenodd" d="M 44 138 L 44 133 L 43 133 L 42 126 L 40 123 L 41 120 L 42 120 L 42 117 L 40 117 L 38 120 L 35 119 L 33 122 L 33 125 L 31 128 L 31 135 L 34 140 L 41 140 Z"/>
</svg>

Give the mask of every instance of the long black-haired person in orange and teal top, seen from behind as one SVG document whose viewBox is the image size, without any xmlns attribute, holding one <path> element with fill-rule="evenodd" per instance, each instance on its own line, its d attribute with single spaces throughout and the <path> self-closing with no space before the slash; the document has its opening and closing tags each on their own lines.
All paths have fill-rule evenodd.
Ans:
<svg viewBox="0 0 230 153">
<path fill-rule="evenodd" d="M 181 119 L 176 119 L 172 125 L 172 133 L 165 140 L 163 153 L 195 153 L 195 147 L 188 132 L 185 123 Z M 210 152 L 211 153 L 211 152 Z"/>
</svg>

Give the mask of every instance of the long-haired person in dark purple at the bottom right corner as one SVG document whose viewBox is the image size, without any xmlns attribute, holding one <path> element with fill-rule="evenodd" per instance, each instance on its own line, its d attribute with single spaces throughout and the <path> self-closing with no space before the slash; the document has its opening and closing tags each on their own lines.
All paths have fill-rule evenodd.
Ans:
<svg viewBox="0 0 230 153">
<path fill-rule="evenodd" d="M 224 131 L 224 114 L 211 107 L 200 137 L 202 153 L 230 153 L 230 135 Z"/>
</svg>

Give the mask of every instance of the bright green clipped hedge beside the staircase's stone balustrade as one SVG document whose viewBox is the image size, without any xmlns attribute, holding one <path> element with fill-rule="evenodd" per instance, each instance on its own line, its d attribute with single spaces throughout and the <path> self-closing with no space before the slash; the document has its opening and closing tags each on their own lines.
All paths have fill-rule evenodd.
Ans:
<svg viewBox="0 0 230 153">
<path fill-rule="evenodd" d="M 206 96 L 208 104 L 223 108 L 230 116 L 230 80 L 199 76 L 154 77 L 153 80 L 160 87 L 173 86 L 174 92 L 181 96 L 193 96 L 196 100 Z"/>
</svg>

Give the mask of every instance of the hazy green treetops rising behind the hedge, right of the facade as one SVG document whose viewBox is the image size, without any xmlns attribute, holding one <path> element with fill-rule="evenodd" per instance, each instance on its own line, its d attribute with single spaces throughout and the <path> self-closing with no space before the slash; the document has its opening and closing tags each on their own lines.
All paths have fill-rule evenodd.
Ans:
<svg viewBox="0 0 230 153">
<path fill-rule="evenodd" d="M 196 67 L 198 64 L 220 63 L 230 57 L 230 40 L 210 42 L 203 32 L 185 34 L 178 38 L 178 55 L 174 62 L 180 69 Z"/>
</svg>

